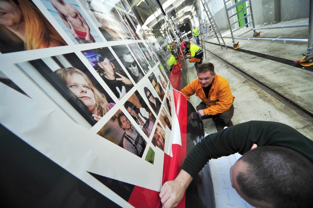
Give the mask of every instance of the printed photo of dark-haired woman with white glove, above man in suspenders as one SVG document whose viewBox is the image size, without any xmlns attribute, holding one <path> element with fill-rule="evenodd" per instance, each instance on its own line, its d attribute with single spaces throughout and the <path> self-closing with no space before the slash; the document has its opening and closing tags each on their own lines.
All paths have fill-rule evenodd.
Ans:
<svg viewBox="0 0 313 208">
<path fill-rule="evenodd" d="M 134 95 L 136 97 L 139 97 L 140 100 L 142 100 L 139 93 L 137 94 L 134 93 Z M 136 104 L 138 107 L 136 106 L 136 104 L 134 104 L 135 102 L 133 101 L 132 97 L 129 100 L 133 101 L 134 103 L 127 100 L 124 104 L 124 107 L 126 108 L 128 113 L 131 114 L 133 119 L 136 121 L 139 127 L 143 130 L 143 132 L 145 132 L 145 134 L 149 138 L 156 119 L 155 118 L 153 119 L 151 117 L 152 114 L 150 115 L 150 112 L 148 112 L 146 108 L 141 107 L 141 103 L 139 102 L 139 99 L 136 100 L 137 101 Z"/>
</svg>

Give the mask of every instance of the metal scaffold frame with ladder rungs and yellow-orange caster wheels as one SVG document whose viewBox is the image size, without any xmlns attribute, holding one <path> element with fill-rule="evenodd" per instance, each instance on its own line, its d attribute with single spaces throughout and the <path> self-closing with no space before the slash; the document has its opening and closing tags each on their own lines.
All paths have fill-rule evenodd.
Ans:
<svg viewBox="0 0 313 208">
<path fill-rule="evenodd" d="M 313 65 L 313 0 L 310 0 L 310 9 L 309 9 L 309 24 L 298 24 L 298 25 L 286 25 L 286 26 L 276 26 L 276 27 L 265 27 L 265 28 L 255 28 L 255 25 L 254 25 L 254 19 L 253 19 L 253 11 L 252 11 L 252 6 L 251 6 L 251 0 L 241 0 L 237 3 L 235 3 L 234 5 L 230 6 L 227 8 L 227 2 L 231 1 L 231 0 L 223 0 L 224 1 L 224 5 L 225 5 L 225 9 L 226 9 L 226 15 L 227 15 L 227 18 L 228 18 L 228 24 L 229 24 L 229 27 L 230 27 L 230 33 L 232 35 L 232 38 L 233 38 L 233 48 L 234 49 L 237 49 L 239 48 L 239 42 L 235 43 L 235 39 L 245 39 L 245 40 L 270 40 L 270 41 L 283 41 L 284 43 L 285 42 L 300 42 L 300 43 L 308 43 L 308 48 L 307 48 L 307 51 L 305 53 L 302 53 L 303 54 L 303 57 L 300 59 L 300 61 L 295 61 L 295 63 L 299 63 L 301 64 L 302 66 L 311 66 Z M 228 11 L 232 10 L 233 8 L 236 8 L 238 5 L 244 3 L 244 2 L 247 2 L 249 1 L 249 5 L 243 9 L 241 9 L 239 12 L 237 13 L 234 13 L 233 15 L 229 16 L 228 14 Z M 230 18 L 234 17 L 235 15 L 237 15 L 238 13 L 240 12 L 243 12 L 244 10 L 246 10 L 247 8 L 250 8 L 250 14 L 244 16 L 243 18 L 240 18 L 239 20 L 235 21 L 234 23 L 230 23 Z M 242 25 L 240 26 L 239 28 L 236 28 L 236 29 L 232 29 L 232 25 L 238 23 L 239 21 L 247 18 L 248 16 L 251 16 L 251 21 L 246 23 L 245 25 Z M 249 25 L 250 23 L 252 23 L 253 27 L 234 37 L 233 36 L 233 33 L 237 30 L 239 30 L 240 28 L 244 27 L 244 26 L 247 26 Z M 298 28 L 298 27 L 309 27 L 309 32 L 308 32 L 308 39 L 305 39 L 305 38 L 259 38 L 260 37 L 260 33 L 257 33 L 256 30 L 265 30 L 265 29 L 279 29 L 279 28 Z M 253 38 L 239 38 L 239 36 L 241 35 L 244 35 L 246 33 L 248 33 L 249 31 L 253 30 L 254 33 L 253 33 Z"/>
</svg>

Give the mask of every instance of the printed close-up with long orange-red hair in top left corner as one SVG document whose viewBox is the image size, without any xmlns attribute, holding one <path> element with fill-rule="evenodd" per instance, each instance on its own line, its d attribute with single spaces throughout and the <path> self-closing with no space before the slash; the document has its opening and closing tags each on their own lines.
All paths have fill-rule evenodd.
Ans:
<svg viewBox="0 0 313 208">
<path fill-rule="evenodd" d="M 0 14 L 1 53 L 67 45 L 30 0 L 0 0 Z"/>
</svg>

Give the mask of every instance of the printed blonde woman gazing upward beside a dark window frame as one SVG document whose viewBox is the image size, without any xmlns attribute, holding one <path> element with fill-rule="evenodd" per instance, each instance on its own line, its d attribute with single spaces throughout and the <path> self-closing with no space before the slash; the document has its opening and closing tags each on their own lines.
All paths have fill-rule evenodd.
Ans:
<svg viewBox="0 0 313 208">
<path fill-rule="evenodd" d="M 77 68 L 60 68 L 54 73 L 92 112 L 96 121 L 99 121 L 115 105 L 109 104 L 105 95 L 100 93 L 89 77 Z"/>
</svg>

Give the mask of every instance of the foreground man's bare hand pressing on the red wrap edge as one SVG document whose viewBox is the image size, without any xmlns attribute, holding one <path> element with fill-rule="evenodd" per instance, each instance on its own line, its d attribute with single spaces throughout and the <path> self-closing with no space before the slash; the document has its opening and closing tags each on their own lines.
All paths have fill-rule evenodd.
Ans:
<svg viewBox="0 0 313 208">
<path fill-rule="evenodd" d="M 165 182 L 159 194 L 162 208 L 177 206 L 191 181 L 192 177 L 186 171 L 181 170 L 175 180 Z"/>
</svg>

